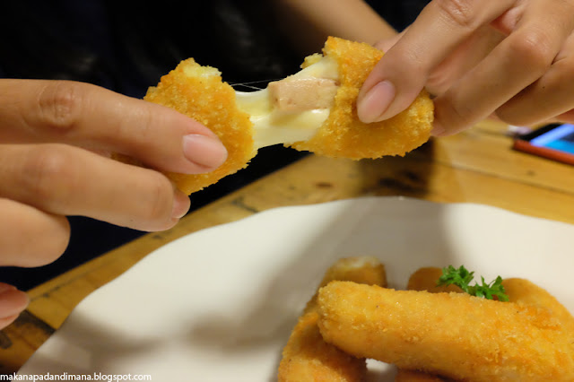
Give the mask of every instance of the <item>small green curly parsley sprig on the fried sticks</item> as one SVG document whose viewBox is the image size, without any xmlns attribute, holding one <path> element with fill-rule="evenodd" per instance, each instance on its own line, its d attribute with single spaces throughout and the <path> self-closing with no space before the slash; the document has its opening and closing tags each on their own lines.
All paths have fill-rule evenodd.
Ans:
<svg viewBox="0 0 574 382">
<path fill-rule="evenodd" d="M 473 279 L 474 272 L 468 272 L 464 265 L 460 265 L 458 269 L 452 265 L 448 265 L 447 268 L 442 268 L 442 276 L 439 277 L 437 285 L 448 286 L 455 284 L 472 296 L 482 297 L 487 300 L 494 300 L 496 296 L 499 301 L 509 300 L 509 296 L 506 294 L 504 286 L 502 285 L 502 277 L 498 276 L 496 280 L 490 283 L 484 282 L 484 277 L 481 277 L 481 284 L 475 283 L 474 285 L 470 285 Z"/>
</svg>

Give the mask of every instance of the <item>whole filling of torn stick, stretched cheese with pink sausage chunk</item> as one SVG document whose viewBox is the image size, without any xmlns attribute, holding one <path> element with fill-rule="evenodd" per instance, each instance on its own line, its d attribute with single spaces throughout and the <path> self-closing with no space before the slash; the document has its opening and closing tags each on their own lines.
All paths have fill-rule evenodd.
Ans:
<svg viewBox="0 0 574 382">
<path fill-rule="evenodd" d="M 261 91 L 236 91 L 239 109 L 253 123 L 256 148 L 312 138 L 329 117 L 338 85 L 337 64 L 324 56 Z"/>
</svg>

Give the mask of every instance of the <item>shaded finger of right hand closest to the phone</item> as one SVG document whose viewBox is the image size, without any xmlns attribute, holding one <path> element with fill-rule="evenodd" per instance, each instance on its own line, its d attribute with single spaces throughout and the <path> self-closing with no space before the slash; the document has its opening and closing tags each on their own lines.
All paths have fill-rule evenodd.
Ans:
<svg viewBox="0 0 574 382">
<path fill-rule="evenodd" d="M 517 126 L 536 125 L 548 119 L 570 122 L 574 108 L 574 35 L 552 63 L 550 69 L 535 83 L 496 110 L 505 122 Z"/>
</svg>

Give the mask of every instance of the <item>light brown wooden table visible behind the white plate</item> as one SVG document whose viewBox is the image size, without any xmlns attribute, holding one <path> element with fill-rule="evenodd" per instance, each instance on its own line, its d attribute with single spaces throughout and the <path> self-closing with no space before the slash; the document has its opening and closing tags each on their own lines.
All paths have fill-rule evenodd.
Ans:
<svg viewBox="0 0 574 382">
<path fill-rule="evenodd" d="M 0 372 L 30 358 L 72 309 L 154 249 L 196 230 L 269 208 L 361 195 L 404 195 L 434 202 L 490 204 L 574 223 L 574 167 L 510 149 L 508 126 L 485 121 L 433 139 L 404 158 L 377 161 L 309 156 L 29 291 L 30 307 L 0 335 Z M 193 196 L 192 196 L 193 203 Z"/>
</svg>

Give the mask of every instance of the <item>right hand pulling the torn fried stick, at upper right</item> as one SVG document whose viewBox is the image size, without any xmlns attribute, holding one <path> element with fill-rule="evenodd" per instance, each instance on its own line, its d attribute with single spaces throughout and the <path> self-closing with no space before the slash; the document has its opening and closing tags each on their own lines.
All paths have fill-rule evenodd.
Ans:
<svg viewBox="0 0 574 382">
<path fill-rule="evenodd" d="M 493 113 L 512 125 L 574 122 L 572 14 L 572 0 L 433 0 L 364 83 L 359 117 L 393 117 L 427 87 L 434 135 Z"/>
</svg>

